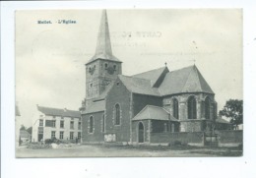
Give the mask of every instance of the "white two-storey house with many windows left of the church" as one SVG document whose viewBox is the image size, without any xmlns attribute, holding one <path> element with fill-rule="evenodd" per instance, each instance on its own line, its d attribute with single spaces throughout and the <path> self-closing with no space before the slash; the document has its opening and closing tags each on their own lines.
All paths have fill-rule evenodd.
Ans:
<svg viewBox="0 0 256 178">
<path fill-rule="evenodd" d="M 81 114 L 79 111 L 43 107 L 37 105 L 32 125 L 32 142 L 58 139 L 75 141 L 81 139 Z"/>
</svg>

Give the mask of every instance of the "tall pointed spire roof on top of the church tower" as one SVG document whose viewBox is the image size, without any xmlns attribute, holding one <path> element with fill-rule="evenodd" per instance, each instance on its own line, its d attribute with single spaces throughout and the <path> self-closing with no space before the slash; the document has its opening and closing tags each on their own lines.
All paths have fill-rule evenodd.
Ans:
<svg viewBox="0 0 256 178">
<path fill-rule="evenodd" d="M 102 12 L 99 30 L 97 34 L 96 53 L 93 58 L 88 61 L 87 64 L 96 61 L 97 59 L 121 62 L 112 54 L 108 21 L 105 10 L 103 10 Z"/>
</svg>

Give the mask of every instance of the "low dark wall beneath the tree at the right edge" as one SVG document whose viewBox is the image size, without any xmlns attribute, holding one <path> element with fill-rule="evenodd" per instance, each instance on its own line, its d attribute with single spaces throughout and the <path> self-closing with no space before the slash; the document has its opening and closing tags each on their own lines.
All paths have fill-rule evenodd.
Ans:
<svg viewBox="0 0 256 178">
<path fill-rule="evenodd" d="M 243 143 L 242 130 L 218 131 L 219 147 L 237 147 Z"/>
</svg>

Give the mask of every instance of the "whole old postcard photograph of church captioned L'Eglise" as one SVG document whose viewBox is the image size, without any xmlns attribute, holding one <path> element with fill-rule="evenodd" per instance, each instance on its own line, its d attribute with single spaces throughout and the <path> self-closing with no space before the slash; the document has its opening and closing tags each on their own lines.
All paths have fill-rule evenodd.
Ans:
<svg viewBox="0 0 256 178">
<path fill-rule="evenodd" d="M 243 155 L 242 9 L 14 17 L 17 158 Z"/>
</svg>

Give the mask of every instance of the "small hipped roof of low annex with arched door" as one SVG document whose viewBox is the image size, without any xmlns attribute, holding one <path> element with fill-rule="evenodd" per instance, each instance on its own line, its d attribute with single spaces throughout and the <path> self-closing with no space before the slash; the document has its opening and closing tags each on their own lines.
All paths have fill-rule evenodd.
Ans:
<svg viewBox="0 0 256 178">
<path fill-rule="evenodd" d="M 162 120 L 162 121 L 176 121 L 173 116 L 169 114 L 164 108 L 154 105 L 146 105 L 132 120 Z"/>
</svg>

